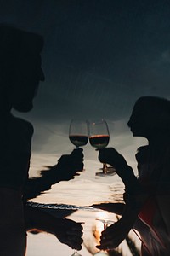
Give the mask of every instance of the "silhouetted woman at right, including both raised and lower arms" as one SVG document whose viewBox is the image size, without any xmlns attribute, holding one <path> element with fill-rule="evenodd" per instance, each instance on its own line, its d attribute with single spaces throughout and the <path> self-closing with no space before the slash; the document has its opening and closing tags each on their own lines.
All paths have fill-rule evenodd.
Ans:
<svg viewBox="0 0 170 256">
<path fill-rule="evenodd" d="M 128 121 L 133 137 L 148 145 L 136 154 L 139 178 L 114 148 L 99 152 L 99 160 L 116 167 L 125 184 L 124 206 L 111 212 L 122 218 L 102 233 L 99 248 L 117 247 L 129 230 L 139 230 L 143 256 L 170 255 L 170 102 L 154 96 L 140 97 Z M 121 209 L 122 208 L 122 209 Z M 105 207 L 106 209 L 106 207 Z"/>
</svg>

